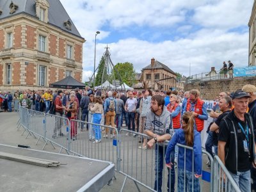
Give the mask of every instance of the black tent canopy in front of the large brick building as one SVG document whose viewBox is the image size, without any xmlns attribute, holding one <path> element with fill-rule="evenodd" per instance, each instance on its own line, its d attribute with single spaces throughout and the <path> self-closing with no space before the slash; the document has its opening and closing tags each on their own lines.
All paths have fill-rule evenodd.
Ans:
<svg viewBox="0 0 256 192">
<path fill-rule="evenodd" d="M 65 88 L 65 89 L 76 89 L 76 88 L 84 88 L 85 84 L 77 81 L 71 76 L 68 76 L 60 81 L 55 83 L 51 83 L 50 87 L 52 88 Z"/>
</svg>

